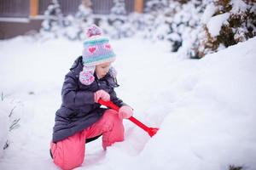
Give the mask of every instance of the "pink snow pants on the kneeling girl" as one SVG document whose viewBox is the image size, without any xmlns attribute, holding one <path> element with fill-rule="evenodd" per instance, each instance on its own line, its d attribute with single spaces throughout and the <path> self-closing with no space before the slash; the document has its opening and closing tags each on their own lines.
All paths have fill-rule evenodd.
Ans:
<svg viewBox="0 0 256 170">
<path fill-rule="evenodd" d="M 101 134 L 104 150 L 114 142 L 124 140 L 123 120 L 119 119 L 116 111 L 108 109 L 92 126 L 57 143 L 51 142 L 50 149 L 55 165 L 65 170 L 79 167 L 84 161 L 85 139 Z"/>
</svg>

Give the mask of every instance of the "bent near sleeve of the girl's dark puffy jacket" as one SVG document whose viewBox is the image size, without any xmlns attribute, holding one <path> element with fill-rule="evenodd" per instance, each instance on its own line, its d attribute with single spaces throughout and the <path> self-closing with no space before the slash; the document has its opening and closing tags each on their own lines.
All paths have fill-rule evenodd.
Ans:
<svg viewBox="0 0 256 170">
<path fill-rule="evenodd" d="M 69 108 L 77 108 L 81 105 L 94 104 L 94 93 L 90 91 L 79 90 L 78 78 L 69 71 L 65 77 L 62 91 L 62 104 Z"/>
</svg>

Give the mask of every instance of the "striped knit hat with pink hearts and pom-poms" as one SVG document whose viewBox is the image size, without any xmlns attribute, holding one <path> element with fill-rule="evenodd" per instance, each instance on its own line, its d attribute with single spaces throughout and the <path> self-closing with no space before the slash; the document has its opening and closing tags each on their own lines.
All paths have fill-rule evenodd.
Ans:
<svg viewBox="0 0 256 170">
<path fill-rule="evenodd" d="M 84 85 L 94 82 L 93 76 L 96 65 L 113 62 L 115 54 L 109 44 L 108 37 L 102 37 L 102 30 L 92 25 L 87 30 L 87 39 L 84 40 L 83 71 L 79 74 L 79 81 Z"/>
</svg>

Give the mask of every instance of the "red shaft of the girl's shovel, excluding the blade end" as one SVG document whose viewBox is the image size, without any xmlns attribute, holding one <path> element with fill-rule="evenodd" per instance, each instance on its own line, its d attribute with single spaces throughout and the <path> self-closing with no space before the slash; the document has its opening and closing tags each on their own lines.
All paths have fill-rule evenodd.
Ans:
<svg viewBox="0 0 256 170">
<path fill-rule="evenodd" d="M 98 100 L 98 103 L 101 105 L 105 105 L 111 109 L 113 109 L 114 111 L 119 111 L 119 106 L 114 105 L 112 101 L 104 101 L 102 99 Z M 146 131 L 147 133 L 150 133 L 150 127 L 147 127 L 145 124 L 143 124 L 143 122 L 140 122 L 139 120 L 137 120 L 137 118 L 135 118 L 134 116 L 129 117 L 129 120 L 133 123 L 135 123 L 138 127 L 141 127 L 144 131 Z M 150 135 L 150 134 L 149 134 Z M 151 135 L 150 135 L 151 136 Z"/>
</svg>

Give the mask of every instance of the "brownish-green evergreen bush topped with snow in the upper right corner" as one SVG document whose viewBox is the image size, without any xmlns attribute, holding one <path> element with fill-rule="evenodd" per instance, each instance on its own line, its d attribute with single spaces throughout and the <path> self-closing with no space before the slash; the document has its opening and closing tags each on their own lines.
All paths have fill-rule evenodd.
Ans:
<svg viewBox="0 0 256 170">
<path fill-rule="evenodd" d="M 204 36 L 195 57 L 217 52 L 238 42 L 244 42 L 256 36 L 256 8 L 252 1 L 225 0 L 214 1 L 207 6 L 208 16 L 204 20 Z M 205 17 L 207 18 L 207 17 Z"/>
</svg>

